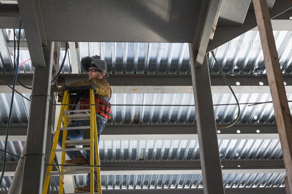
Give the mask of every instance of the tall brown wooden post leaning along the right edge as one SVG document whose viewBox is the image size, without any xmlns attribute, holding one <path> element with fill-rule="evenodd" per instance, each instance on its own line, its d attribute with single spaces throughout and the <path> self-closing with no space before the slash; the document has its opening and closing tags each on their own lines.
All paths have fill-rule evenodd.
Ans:
<svg viewBox="0 0 292 194">
<path fill-rule="evenodd" d="M 280 69 L 267 1 L 253 0 L 253 2 L 287 173 L 287 181 L 285 181 L 285 184 L 288 188 L 286 191 L 292 191 L 292 118 Z"/>
</svg>

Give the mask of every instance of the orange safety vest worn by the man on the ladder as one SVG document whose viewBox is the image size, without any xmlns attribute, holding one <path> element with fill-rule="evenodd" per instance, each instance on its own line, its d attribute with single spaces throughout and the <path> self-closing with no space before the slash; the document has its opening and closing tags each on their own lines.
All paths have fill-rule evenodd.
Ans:
<svg viewBox="0 0 292 194">
<path fill-rule="evenodd" d="M 100 114 L 106 119 L 110 119 L 110 103 L 107 103 L 102 97 L 99 97 L 97 95 L 94 95 L 94 102 L 95 105 L 101 105 L 101 106 L 95 106 L 95 113 Z M 90 98 L 81 98 L 80 99 L 80 110 L 90 109 L 90 106 L 82 106 L 89 105 L 90 104 Z"/>
</svg>

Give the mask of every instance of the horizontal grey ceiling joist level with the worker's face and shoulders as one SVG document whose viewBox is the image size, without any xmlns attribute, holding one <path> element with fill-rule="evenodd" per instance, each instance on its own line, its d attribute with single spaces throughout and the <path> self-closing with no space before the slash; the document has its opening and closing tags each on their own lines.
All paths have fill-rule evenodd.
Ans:
<svg viewBox="0 0 292 194">
<path fill-rule="evenodd" d="M 212 93 L 230 93 L 219 74 L 210 74 Z M 227 80 L 235 93 L 270 93 L 266 74 L 226 74 Z M 60 74 L 59 79 L 66 84 L 86 80 L 88 74 Z M 292 74 L 283 74 L 285 89 L 292 93 Z M 18 79 L 26 86 L 31 86 L 33 74 L 19 73 Z M 0 74 L 0 92 L 11 93 L 13 74 Z M 109 83 L 113 93 L 193 93 L 190 74 L 110 74 Z M 205 79 L 202 85 L 208 84 Z M 31 91 L 18 85 L 20 93 Z"/>
</svg>

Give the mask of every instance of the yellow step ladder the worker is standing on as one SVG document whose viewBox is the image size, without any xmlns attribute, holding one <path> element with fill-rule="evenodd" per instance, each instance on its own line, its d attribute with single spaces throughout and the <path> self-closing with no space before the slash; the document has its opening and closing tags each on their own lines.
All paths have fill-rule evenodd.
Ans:
<svg viewBox="0 0 292 194">
<path fill-rule="evenodd" d="M 97 171 L 97 183 L 98 183 L 98 193 L 95 194 L 102 194 L 101 193 L 101 176 L 100 176 L 100 161 L 99 161 L 99 153 L 98 153 L 98 143 L 97 143 L 97 130 L 96 130 L 96 116 L 95 116 L 95 106 L 90 106 L 88 110 L 69 110 L 69 103 L 70 103 L 70 95 L 75 97 L 79 97 L 84 94 L 90 96 L 90 104 L 95 104 L 94 102 L 94 93 L 92 86 L 82 86 L 82 87 L 66 87 L 65 93 L 63 95 L 62 106 L 58 118 L 57 128 L 55 131 L 55 137 L 53 141 L 53 146 L 51 150 L 51 155 L 49 159 L 49 165 L 46 173 L 45 182 L 43 185 L 42 194 L 47 194 L 47 190 L 50 183 L 51 176 L 60 176 L 59 180 L 59 194 L 63 194 L 64 190 L 64 175 L 74 175 L 74 174 L 84 174 L 90 173 L 90 193 L 94 193 L 94 168 Z M 83 112 L 87 114 L 70 114 L 72 112 Z M 67 140 L 67 130 L 76 129 L 76 127 L 68 127 L 68 123 L 71 121 L 76 120 L 88 120 L 90 119 L 90 126 L 79 126 L 78 129 L 88 130 L 90 129 L 90 140 Z M 61 127 L 63 123 L 63 127 Z M 58 138 L 60 135 L 60 130 L 63 130 L 63 141 L 62 141 L 62 148 L 56 149 Z M 67 145 L 89 145 L 90 147 L 84 148 L 66 148 Z M 67 167 L 64 168 L 63 164 L 65 161 L 66 151 L 75 151 L 75 150 L 90 150 L 90 166 L 79 166 L 76 165 L 73 168 L 68 169 Z M 95 162 L 96 166 L 94 167 L 94 151 L 95 151 Z M 56 152 L 62 152 L 61 158 L 61 168 L 60 172 L 52 172 L 53 165 L 54 165 L 54 158 Z M 67 170 L 69 171 L 67 171 Z M 72 170 L 74 169 L 74 170 Z M 66 170 L 66 171 L 65 171 Z"/>
</svg>

